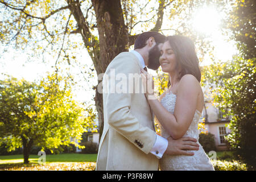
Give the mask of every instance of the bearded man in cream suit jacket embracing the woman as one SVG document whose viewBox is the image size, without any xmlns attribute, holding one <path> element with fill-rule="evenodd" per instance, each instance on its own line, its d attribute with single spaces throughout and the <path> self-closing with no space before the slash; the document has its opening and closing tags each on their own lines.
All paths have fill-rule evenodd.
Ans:
<svg viewBox="0 0 256 182">
<path fill-rule="evenodd" d="M 193 155 L 186 150 L 198 150 L 194 138 L 165 139 L 155 133 L 154 115 L 147 98 L 135 91 L 142 88 L 139 81 L 129 88 L 133 92 L 111 92 L 113 85 L 119 84 L 115 82 L 118 74 L 128 78 L 130 87 L 130 75 L 141 75 L 146 66 L 158 69 L 164 40 L 165 36 L 158 32 L 144 32 L 135 40 L 133 51 L 119 53 L 106 69 L 103 89 L 108 92 L 103 93 L 104 130 L 96 170 L 154 171 L 158 170 L 163 154 Z"/>
</svg>

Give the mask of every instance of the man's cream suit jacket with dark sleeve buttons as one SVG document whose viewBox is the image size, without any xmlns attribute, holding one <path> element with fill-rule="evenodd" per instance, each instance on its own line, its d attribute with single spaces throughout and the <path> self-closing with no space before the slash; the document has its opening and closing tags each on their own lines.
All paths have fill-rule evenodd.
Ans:
<svg viewBox="0 0 256 182">
<path fill-rule="evenodd" d="M 156 140 L 154 117 L 141 92 L 141 82 L 134 81 L 132 93 L 113 93 L 110 92 L 113 84 L 106 81 L 113 76 L 113 71 L 115 76 L 128 79 L 129 73 L 141 75 L 141 68 L 138 57 L 131 52 L 122 52 L 106 69 L 103 79 L 104 130 L 96 170 L 158 170 L 158 159 L 150 153 Z M 120 84 L 117 77 L 115 86 Z M 127 91 L 128 87 L 127 84 Z M 138 87 L 139 93 L 135 92 Z"/>
</svg>

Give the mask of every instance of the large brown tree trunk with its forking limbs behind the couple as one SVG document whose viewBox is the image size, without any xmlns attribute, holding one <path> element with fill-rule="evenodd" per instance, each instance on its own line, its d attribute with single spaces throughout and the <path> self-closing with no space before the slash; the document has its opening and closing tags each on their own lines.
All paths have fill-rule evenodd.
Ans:
<svg viewBox="0 0 256 182">
<path fill-rule="evenodd" d="M 121 0 L 91 1 L 96 15 L 99 40 L 91 34 L 86 17 L 82 14 L 79 1 L 67 0 L 69 10 L 71 10 L 79 27 L 76 32 L 81 34 L 85 47 L 90 48 L 88 53 L 92 58 L 97 75 L 99 75 L 100 73 L 105 73 L 106 68 L 115 56 L 120 52 L 129 50 L 129 46 L 134 44 L 134 40 L 138 35 L 130 36 L 128 33 L 128 28 L 123 20 Z M 162 26 L 165 3 L 165 0 L 159 1 L 158 19 L 152 31 L 158 31 Z M 98 84 L 101 81 L 99 80 Z M 104 110 L 102 94 L 98 93 L 97 86 L 94 101 L 98 112 L 98 125 L 101 138 L 104 127 Z"/>
</svg>

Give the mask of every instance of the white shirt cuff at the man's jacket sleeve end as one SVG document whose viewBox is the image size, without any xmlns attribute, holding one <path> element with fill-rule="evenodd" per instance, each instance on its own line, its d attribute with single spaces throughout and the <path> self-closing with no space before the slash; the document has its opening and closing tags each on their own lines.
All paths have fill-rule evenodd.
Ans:
<svg viewBox="0 0 256 182">
<path fill-rule="evenodd" d="M 156 158 L 161 159 L 168 146 L 168 140 L 166 138 L 156 135 L 155 144 L 152 147 L 150 153 L 155 155 Z"/>
</svg>

